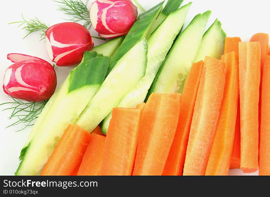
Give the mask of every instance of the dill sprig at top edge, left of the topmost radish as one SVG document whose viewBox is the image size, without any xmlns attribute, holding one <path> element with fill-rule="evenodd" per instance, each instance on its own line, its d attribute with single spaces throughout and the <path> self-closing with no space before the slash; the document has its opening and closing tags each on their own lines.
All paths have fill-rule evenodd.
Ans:
<svg viewBox="0 0 270 197">
<path fill-rule="evenodd" d="M 83 3 L 81 0 L 61 0 L 61 1 L 54 1 L 59 3 L 58 9 L 60 11 L 64 11 L 65 14 L 72 15 L 73 18 L 71 19 L 65 19 L 65 20 L 71 20 L 75 23 L 79 21 L 84 21 L 83 26 L 86 28 L 91 27 L 91 21 L 89 17 L 89 9 L 87 8 L 87 4 L 89 0 L 86 1 L 86 3 Z"/>
</svg>

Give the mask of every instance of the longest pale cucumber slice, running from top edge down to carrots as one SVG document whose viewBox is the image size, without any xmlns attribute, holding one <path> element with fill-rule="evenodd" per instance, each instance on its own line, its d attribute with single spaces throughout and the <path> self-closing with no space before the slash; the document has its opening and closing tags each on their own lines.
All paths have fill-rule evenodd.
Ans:
<svg viewBox="0 0 270 197">
<path fill-rule="evenodd" d="M 156 31 L 148 39 L 148 63 L 145 76 L 138 84 L 122 99 L 117 107 L 133 108 L 137 104 L 144 102 L 147 92 L 156 76 L 156 73 L 164 61 L 168 50 L 171 48 L 174 39 L 181 30 L 191 3 L 182 6 L 171 13 Z M 169 24 L 174 24 L 170 28 Z M 169 31 L 170 29 L 170 31 Z M 169 39 L 169 36 L 171 38 Z M 164 39 L 164 37 L 166 39 Z M 159 43 L 158 41 L 161 41 Z M 111 113 L 102 121 L 102 133 L 106 134 L 110 123 Z"/>
</svg>

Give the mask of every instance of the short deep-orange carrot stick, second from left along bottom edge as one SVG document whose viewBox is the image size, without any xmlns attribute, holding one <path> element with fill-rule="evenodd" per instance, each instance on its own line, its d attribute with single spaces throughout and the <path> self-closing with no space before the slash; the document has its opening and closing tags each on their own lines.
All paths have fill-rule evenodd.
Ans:
<svg viewBox="0 0 270 197">
<path fill-rule="evenodd" d="M 92 132 L 77 174 L 78 176 L 100 175 L 105 139 L 105 136 Z"/>
</svg>

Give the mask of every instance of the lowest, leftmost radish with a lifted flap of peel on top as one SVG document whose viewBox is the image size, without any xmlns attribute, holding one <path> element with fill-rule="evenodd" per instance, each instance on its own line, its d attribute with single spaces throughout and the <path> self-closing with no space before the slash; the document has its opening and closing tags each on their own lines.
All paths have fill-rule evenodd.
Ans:
<svg viewBox="0 0 270 197">
<path fill-rule="evenodd" d="M 51 64 L 24 54 L 8 54 L 7 57 L 17 62 L 5 72 L 3 89 L 7 95 L 33 102 L 52 96 L 57 79 Z"/>
</svg>

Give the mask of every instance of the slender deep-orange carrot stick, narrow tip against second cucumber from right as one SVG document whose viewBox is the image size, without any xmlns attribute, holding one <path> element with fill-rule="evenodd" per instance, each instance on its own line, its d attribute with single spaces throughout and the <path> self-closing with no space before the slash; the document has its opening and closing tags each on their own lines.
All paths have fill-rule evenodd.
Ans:
<svg viewBox="0 0 270 197">
<path fill-rule="evenodd" d="M 176 133 L 162 175 L 182 175 L 183 173 L 187 141 L 202 69 L 203 61 L 191 66 L 180 102 Z"/>
</svg>

